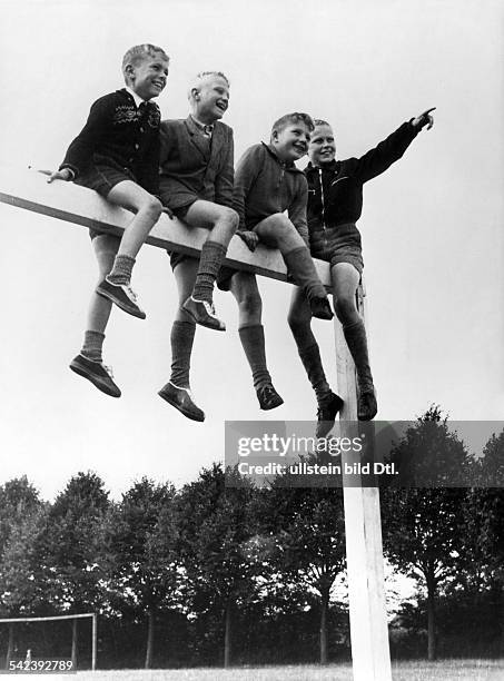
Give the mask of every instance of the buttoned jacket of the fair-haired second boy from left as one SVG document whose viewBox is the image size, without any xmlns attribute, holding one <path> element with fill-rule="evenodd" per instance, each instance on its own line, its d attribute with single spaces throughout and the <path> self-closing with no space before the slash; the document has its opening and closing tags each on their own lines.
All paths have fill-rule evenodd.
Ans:
<svg viewBox="0 0 504 681">
<path fill-rule="evenodd" d="M 160 194 L 176 209 L 195 198 L 223 206 L 233 204 L 233 129 L 216 121 L 211 140 L 189 116 L 161 122 Z"/>
</svg>

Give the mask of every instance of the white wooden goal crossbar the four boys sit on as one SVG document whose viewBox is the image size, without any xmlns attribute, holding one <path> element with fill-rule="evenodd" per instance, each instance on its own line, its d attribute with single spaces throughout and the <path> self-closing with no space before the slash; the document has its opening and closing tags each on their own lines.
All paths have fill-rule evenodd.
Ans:
<svg viewBox="0 0 504 681">
<path fill-rule="evenodd" d="M 96 191 L 61 180 L 49 185 L 46 175 L 30 169 L 0 168 L 0 201 L 109 234 L 120 235 L 131 220 L 128 210 L 112 206 Z M 188 229 L 177 218 L 161 215 L 147 243 L 199 256 L 207 237 L 206 229 Z M 259 245 L 251 253 L 239 237 L 231 239 L 225 264 L 287 282 L 287 269 L 277 249 Z M 316 260 L 315 265 L 323 284 L 330 288 L 328 263 Z"/>
</svg>

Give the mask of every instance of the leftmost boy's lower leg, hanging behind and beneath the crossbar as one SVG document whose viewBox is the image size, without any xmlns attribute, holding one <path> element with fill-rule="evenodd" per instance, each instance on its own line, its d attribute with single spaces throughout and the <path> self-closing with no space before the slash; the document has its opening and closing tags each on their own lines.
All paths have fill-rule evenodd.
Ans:
<svg viewBox="0 0 504 681">
<path fill-rule="evenodd" d="M 98 260 L 100 282 L 113 263 L 119 247 L 119 239 L 109 235 L 97 235 L 92 245 Z M 70 363 L 70 368 L 80 376 L 88 378 L 98 389 L 111 397 L 120 397 L 121 392 L 112 379 L 111 369 L 102 362 L 105 330 L 110 317 L 112 304 L 107 298 L 92 293 L 89 305 L 87 329 L 82 348 Z"/>
</svg>

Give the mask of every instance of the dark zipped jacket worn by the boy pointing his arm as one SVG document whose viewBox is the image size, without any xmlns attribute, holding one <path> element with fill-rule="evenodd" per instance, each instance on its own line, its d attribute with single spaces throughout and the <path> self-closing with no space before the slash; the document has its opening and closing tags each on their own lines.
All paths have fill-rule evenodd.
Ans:
<svg viewBox="0 0 504 681">
<path fill-rule="evenodd" d="M 377 147 L 360 158 L 334 160 L 322 168 L 305 168 L 308 180 L 309 233 L 356 223 L 363 211 L 363 185 L 398 160 L 418 135 L 411 122 L 403 124 Z"/>
</svg>

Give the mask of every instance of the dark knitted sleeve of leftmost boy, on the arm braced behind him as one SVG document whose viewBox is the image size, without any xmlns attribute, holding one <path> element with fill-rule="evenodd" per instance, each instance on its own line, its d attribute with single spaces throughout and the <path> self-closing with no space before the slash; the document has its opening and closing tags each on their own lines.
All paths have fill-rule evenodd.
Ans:
<svg viewBox="0 0 504 681">
<path fill-rule="evenodd" d="M 90 164 L 96 147 L 107 135 L 115 110 L 113 95 L 106 95 L 91 106 L 85 127 L 70 144 L 63 162 L 59 167 L 70 168 L 77 177 Z"/>
</svg>

